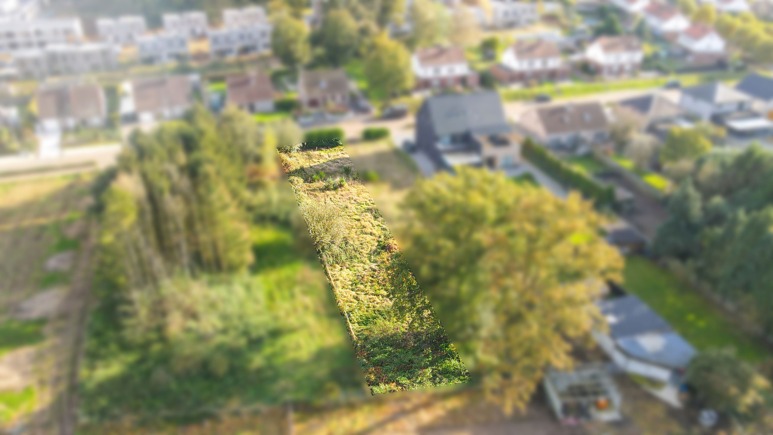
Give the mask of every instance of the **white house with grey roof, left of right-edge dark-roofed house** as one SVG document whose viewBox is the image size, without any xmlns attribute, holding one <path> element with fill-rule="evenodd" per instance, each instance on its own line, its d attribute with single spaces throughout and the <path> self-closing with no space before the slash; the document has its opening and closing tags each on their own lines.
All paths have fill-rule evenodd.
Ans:
<svg viewBox="0 0 773 435">
<path fill-rule="evenodd" d="M 686 87 L 679 99 L 679 106 L 704 121 L 718 115 L 751 109 L 751 97 L 732 87 L 717 82 Z"/>
</svg>

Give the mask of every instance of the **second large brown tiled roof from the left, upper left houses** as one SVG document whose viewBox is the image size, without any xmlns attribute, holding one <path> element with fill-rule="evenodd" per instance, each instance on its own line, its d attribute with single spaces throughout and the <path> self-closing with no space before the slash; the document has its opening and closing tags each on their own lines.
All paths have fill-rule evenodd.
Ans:
<svg viewBox="0 0 773 435">
<path fill-rule="evenodd" d="M 156 113 L 193 103 L 191 82 L 186 76 L 141 78 L 132 82 L 135 110 Z"/>
</svg>

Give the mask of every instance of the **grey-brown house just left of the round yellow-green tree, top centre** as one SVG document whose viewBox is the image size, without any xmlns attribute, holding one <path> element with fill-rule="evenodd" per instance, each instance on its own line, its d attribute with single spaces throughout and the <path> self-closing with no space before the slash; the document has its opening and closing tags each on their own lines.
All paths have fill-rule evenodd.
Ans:
<svg viewBox="0 0 773 435">
<path fill-rule="evenodd" d="M 298 101 L 305 109 L 349 110 L 349 77 L 341 69 L 301 70 L 298 74 Z"/>
</svg>

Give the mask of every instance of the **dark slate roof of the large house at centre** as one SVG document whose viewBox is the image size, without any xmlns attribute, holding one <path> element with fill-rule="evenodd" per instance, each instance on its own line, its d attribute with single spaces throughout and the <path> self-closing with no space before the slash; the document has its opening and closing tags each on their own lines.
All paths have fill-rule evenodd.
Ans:
<svg viewBox="0 0 773 435">
<path fill-rule="evenodd" d="M 440 136 L 510 131 L 502 100 L 496 92 L 436 95 L 428 98 L 424 104 L 427 105 L 435 133 Z"/>
</svg>

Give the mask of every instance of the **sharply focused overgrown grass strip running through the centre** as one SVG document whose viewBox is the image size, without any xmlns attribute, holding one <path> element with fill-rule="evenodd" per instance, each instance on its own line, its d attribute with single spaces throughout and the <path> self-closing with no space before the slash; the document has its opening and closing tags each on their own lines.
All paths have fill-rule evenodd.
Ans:
<svg viewBox="0 0 773 435">
<path fill-rule="evenodd" d="M 469 372 L 343 146 L 283 147 L 282 166 L 373 395 Z"/>
</svg>

